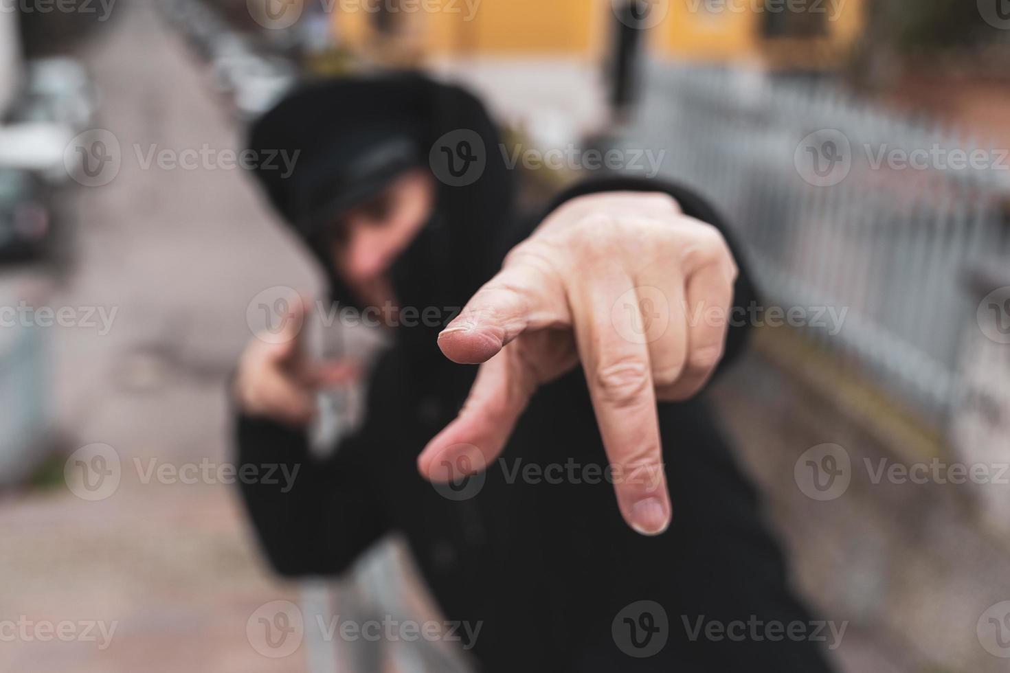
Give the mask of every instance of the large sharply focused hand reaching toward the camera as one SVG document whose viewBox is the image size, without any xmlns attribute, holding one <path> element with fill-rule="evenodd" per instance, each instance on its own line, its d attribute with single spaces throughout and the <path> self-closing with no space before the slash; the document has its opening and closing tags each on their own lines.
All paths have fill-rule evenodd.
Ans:
<svg viewBox="0 0 1010 673">
<path fill-rule="evenodd" d="M 718 230 L 667 195 L 568 202 L 438 336 L 449 359 L 484 364 L 460 416 L 419 456 L 421 473 L 447 481 L 483 469 L 537 386 L 581 361 L 621 514 L 662 533 L 671 506 L 656 401 L 694 396 L 715 369 L 736 273 Z"/>
</svg>

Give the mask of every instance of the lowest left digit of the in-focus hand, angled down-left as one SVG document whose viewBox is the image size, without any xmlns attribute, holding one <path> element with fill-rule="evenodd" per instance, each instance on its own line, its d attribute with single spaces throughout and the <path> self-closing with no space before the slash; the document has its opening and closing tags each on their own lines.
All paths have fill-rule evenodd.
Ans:
<svg viewBox="0 0 1010 673">
<path fill-rule="evenodd" d="M 507 347 L 481 365 L 460 415 L 417 458 L 425 478 L 446 482 L 480 472 L 502 452 L 536 389 L 532 371 L 516 352 Z"/>
</svg>

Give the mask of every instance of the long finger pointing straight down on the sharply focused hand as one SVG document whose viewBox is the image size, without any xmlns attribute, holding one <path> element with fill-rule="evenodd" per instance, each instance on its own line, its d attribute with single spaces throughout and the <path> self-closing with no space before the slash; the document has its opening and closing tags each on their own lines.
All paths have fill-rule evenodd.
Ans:
<svg viewBox="0 0 1010 673">
<path fill-rule="evenodd" d="M 573 289 L 576 341 L 624 520 L 659 535 L 671 519 L 648 344 L 631 279 L 614 271 Z M 629 290 L 631 292 L 629 292 Z M 631 301 L 618 301 L 632 297 Z M 625 306 L 626 305 L 626 306 Z"/>
</svg>

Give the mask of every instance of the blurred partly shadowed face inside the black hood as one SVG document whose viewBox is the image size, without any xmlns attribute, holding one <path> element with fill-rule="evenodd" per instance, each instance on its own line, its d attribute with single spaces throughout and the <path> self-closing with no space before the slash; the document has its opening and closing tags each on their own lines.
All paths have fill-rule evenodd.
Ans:
<svg viewBox="0 0 1010 673">
<path fill-rule="evenodd" d="M 333 264 L 366 303 L 394 300 L 386 272 L 431 217 L 434 199 L 431 175 L 415 169 L 335 223 Z"/>
</svg>

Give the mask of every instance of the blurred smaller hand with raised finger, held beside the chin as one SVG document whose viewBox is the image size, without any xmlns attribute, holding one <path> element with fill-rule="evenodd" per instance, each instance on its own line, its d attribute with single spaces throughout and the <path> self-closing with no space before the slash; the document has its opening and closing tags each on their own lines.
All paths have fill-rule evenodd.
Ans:
<svg viewBox="0 0 1010 673">
<path fill-rule="evenodd" d="M 309 362 L 302 344 L 305 302 L 289 304 L 280 334 L 254 337 L 245 346 L 232 394 L 244 414 L 301 427 L 316 415 L 317 390 L 349 383 L 359 372 L 346 360 Z"/>
</svg>

